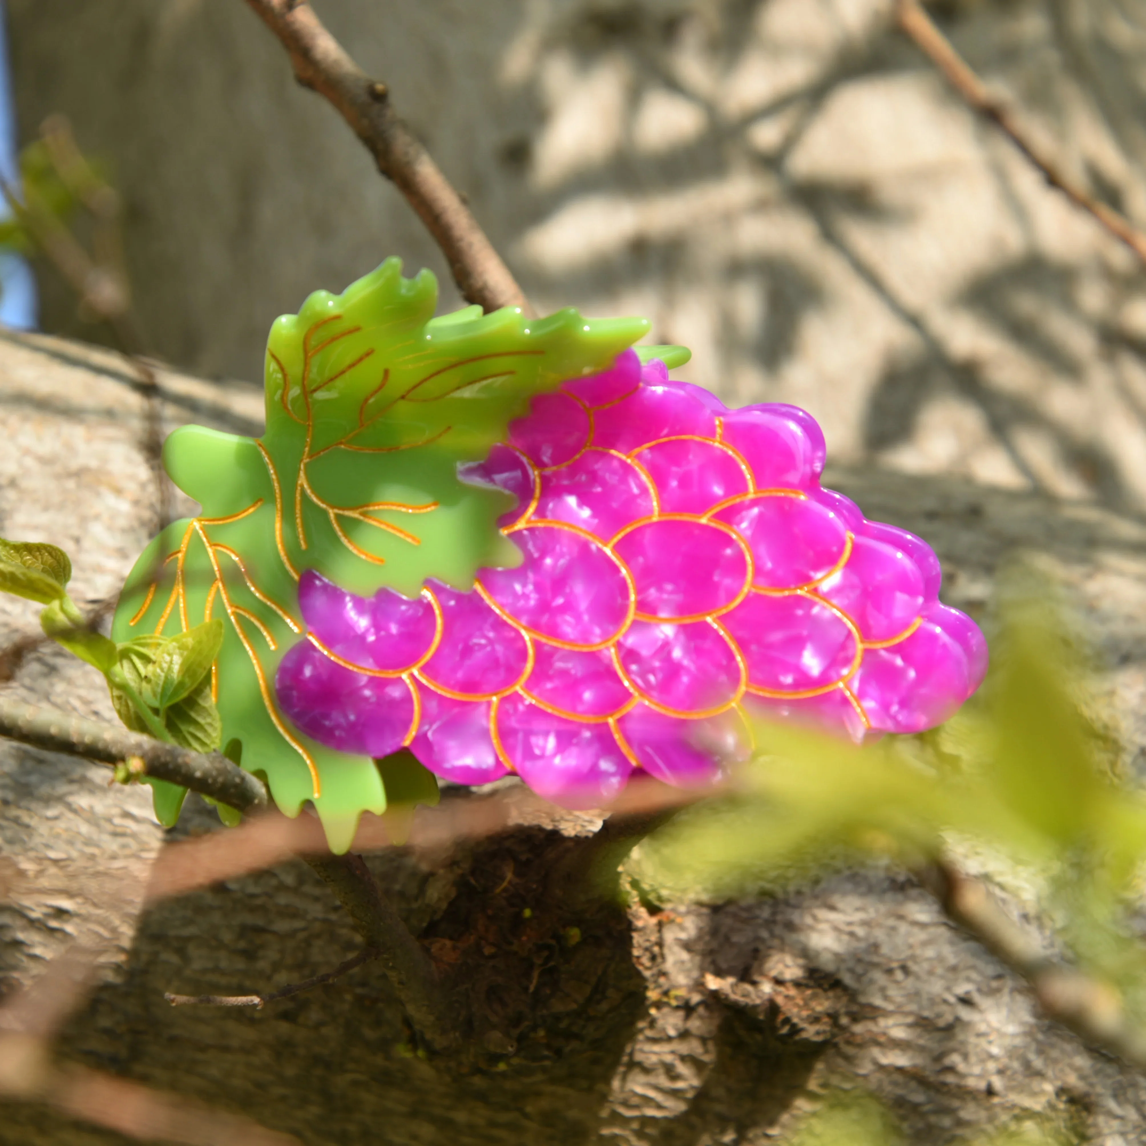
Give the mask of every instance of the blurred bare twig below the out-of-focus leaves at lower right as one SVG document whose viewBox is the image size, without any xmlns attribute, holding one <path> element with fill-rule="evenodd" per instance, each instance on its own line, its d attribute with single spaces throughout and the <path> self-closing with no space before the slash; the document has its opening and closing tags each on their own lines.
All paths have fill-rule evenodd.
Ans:
<svg viewBox="0 0 1146 1146">
<path fill-rule="evenodd" d="M 1127 1014 L 1115 988 L 1076 967 L 1049 959 L 981 880 L 941 859 L 919 873 L 949 919 L 1030 984 L 1043 1013 L 1084 1042 L 1146 1069 L 1146 1031 Z"/>
</svg>

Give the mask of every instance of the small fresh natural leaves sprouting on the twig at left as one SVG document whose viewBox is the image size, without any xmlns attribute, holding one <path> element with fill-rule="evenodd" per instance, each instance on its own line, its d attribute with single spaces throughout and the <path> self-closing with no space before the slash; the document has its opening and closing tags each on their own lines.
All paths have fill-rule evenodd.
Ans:
<svg viewBox="0 0 1146 1146">
<path fill-rule="evenodd" d="M 222 723 L 211 694 L 211 666 L 222 647 L 222 621 L 117 643 L 88 627 L 68 596 L 70 580 L 71 562 L 62 549 L 0 539 L 0 591 L 45 606 L 45 634 L 103 674 L 127 728 L 194 752 L 218 748 Z"/>
</svg>

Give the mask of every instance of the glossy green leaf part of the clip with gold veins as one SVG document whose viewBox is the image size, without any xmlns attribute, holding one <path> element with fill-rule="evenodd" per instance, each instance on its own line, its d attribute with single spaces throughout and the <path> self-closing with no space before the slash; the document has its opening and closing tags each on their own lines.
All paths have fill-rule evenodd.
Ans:
<svg viewBox="0 0 1146 1146">
<path fill-rule="evenodd" d="M 267 429 L 258 440 L 199 426 L 164 447 L 175 484 L 203 507 L 136 563 L 117 641 L 173 636 L 212 618 L 225 635 L 213 682 L 225 738 L 265 772 L 288 815 L 313 800 L 345 850 L 359 815 L 382 814 L 374 761 L 293 728 L 274 696 L 283 654 L 304 636 L 298 578 L 408 596 L 426 578 L 468 590 L 481 566 L 520 554 L 497 528 L 512 499 L 457 477 L 484 458 L 536 394 L 609 366 L 649 328 L 576 311 L 526 319 L 468 307 L 433 317 L 437 283 L 388 259 L 342 295 L 317 291 L 267 344 Z"/>
</svg>

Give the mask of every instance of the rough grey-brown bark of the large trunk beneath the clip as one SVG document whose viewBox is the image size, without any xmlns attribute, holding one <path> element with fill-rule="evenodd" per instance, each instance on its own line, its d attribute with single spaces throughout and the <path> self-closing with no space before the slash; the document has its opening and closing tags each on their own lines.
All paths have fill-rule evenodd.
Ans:
<svg viewBox="0 0 1146 1146">
<path fill-rule="evenodd" d="M 253 387 L 170 374 L 159 385 L 168 427 L 258 427 Z M 144 397 L 112 356 L 28 337 L 0 343 L 0 533 L 68 548 L 76 597 L 94 605 L 154 527 Z M 832 484 L 927 537 L 948 598 L 988 626 L 1000 563 L 1015 547 L 1041 554 L 1108 666 L 1112 712 L 1143 712 L 1146 526 L 957 480 L 841 471 Z M 0 609 L 5 644 L 34 635 L 32 606 Z M 54 649 L 29 641 L 6 675 L 7 694 L 111 719 L 95 674 Z M 1129 719 L 1124 731 L 1141 743 Z M 64 1055 L 313 1146 L 764 1143 L 834 1085 L 874 1091 L 920 1144 L 1030 1115 L 1107 1146 L 1146 1135 L 1146 1080 L 1041 1019 L 1027 989 L 903 873 L 838 874 L 739 903 L 658 902 L 623 873 L 618 887 L 597 822 L 580 816 L 430 866 L 401 851 L 369 857 L 432 957 L 463 972 L 481 1049 L 465 1074 L 411 1053 L 372 964 L 261 1011 L 172 1010 L 164 991 L 273 990 L 359 942 L 300 862 L 142 917 L 138 903 L 109 904 L 104 877 L 126 868 L 142 881 L 164 843 L 148 802 L 109 788 L 95 766 L 0 745 L 0 846 L 19 871 L 0 905 L 2 982 L 34 978 L 70 936 L 103 944 Z M 213 815 L 193 803 L 178 833 L 217 830 Z M 0 1115 L 6 1146 L 120 1140 L 31 1104 Z"/>
</svg>

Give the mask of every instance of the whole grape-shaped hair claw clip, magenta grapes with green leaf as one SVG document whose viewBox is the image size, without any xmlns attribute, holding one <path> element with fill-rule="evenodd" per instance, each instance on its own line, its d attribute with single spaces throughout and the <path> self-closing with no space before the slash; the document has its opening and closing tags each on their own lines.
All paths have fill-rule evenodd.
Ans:
<svg viewBox="0 0 1146 1146">
<path fill-rule="evenodd" d="M 203 509 L 143 552 L 112 627 L 223 622 L 199 739 L 221 725 L 335 850 L 386 809 L 375 761 L 402 747 L 598 806 L 635 769 L 712 780 L 754 713 L 859 739 L 976 688 L 986 645 L 934 555 L 821 488 L 802 410 L 642 366 L 643 319 L 435 305 L 390 259 L 278 319 L 266 432 L 171 434 Z M 150 783 L 172 823 L 182 790 Z"/>
</svg>

